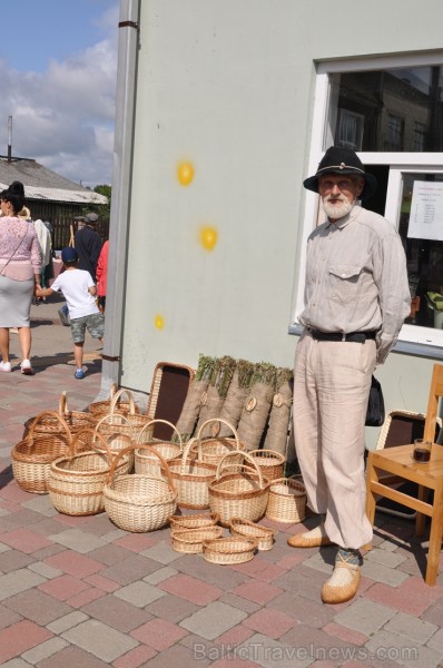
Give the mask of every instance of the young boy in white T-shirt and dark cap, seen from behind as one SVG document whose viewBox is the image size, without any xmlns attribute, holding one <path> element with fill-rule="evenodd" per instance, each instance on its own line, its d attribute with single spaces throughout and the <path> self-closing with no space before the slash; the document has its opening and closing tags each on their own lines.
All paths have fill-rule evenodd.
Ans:
<svg viewBox="0 0 443 668">
<path fill-rule="evenodd" d="M 97 287 L 89 274 L 77 268 L 78 253 L 75 248 L 63 248 L 61 261 L 65 272 L 58 275 L 51 287 L 36 288 L 37 297 L 49 297 L 55 292 L 62 292 L 69 311 L 73 341 L 73 357 L 77 364 L 76 379 L 85 377 L 83 344 L 88 330 L 92 338 L 101 343 L 105 332 L 105 316 L 100 313 L 95 296 Z"/>
</svg>

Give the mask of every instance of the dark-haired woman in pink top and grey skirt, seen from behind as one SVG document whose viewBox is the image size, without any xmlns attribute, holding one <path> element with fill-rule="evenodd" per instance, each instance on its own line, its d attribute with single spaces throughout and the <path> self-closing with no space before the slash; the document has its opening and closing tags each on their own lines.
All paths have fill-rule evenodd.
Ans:
<svg viewBox="0 0 443 668">
<path fill-rule="evenodd" d="M 18 216 L 23 205 L 24 188 L 20 181 L 13 181 L 0 193 L 0 371 L 12 371 L 9 330 L 17 327 L 22 354 L 21 373 L 30 375 L 29 315 L 36 285 L 40 285 L 41 254 L 32 223 Z"/>
</svg>

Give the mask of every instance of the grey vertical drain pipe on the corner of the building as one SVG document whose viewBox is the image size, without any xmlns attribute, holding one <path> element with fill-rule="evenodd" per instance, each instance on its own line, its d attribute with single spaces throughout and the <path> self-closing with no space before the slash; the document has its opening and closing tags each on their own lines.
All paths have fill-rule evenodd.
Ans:
<svg viewBox="0 0 443 668">
<path fill-rule="evenodd" d="M 107 277 L 101 387 L 97 399 L 107 399 L 111 384 L 119 385 L 121 376 L 120 355 L 130 214 L 139 16 L 140 0 L 120 0 L 112 199 L 109 222 L 108 267 L 111 267 L 111 271 L 108 272 Z"/>
</svg>

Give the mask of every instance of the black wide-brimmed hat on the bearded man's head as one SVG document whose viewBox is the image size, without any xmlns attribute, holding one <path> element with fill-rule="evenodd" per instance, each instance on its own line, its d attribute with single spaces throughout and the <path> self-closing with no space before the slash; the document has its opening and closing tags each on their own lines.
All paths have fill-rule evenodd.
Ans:
<svg viewBox="0 0 443 668">
<path fill-rule="evenodd" d="M 331 146 L 323 156 L 317 173 L 303 181 L 303 185 L 313 193 L 318 193 L 318 177 L 325 174 L 353 174 L 361 176 L 364 181 L 364 188 L 358 199 L 367 199 L 374 195 L 377 188 L 377 180 L 373 174 L 365 171 L 362 160 L 351 148 L 341 148 Z"/>
</svg>

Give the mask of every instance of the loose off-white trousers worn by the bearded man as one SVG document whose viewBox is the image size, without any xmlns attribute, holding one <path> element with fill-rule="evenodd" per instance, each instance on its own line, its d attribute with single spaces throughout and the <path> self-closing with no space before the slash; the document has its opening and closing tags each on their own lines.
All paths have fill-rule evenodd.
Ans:
<svg viewBox="0 0 443 668">
<path fill-rule="evenodd" d="M 375 341 L 315 341 L 304 333 L 294 371 L 294 438 L 309 508 L 328 538 L 358 549 L 372 540 L 365 514 L 364 422 Z"/>
</svg>

